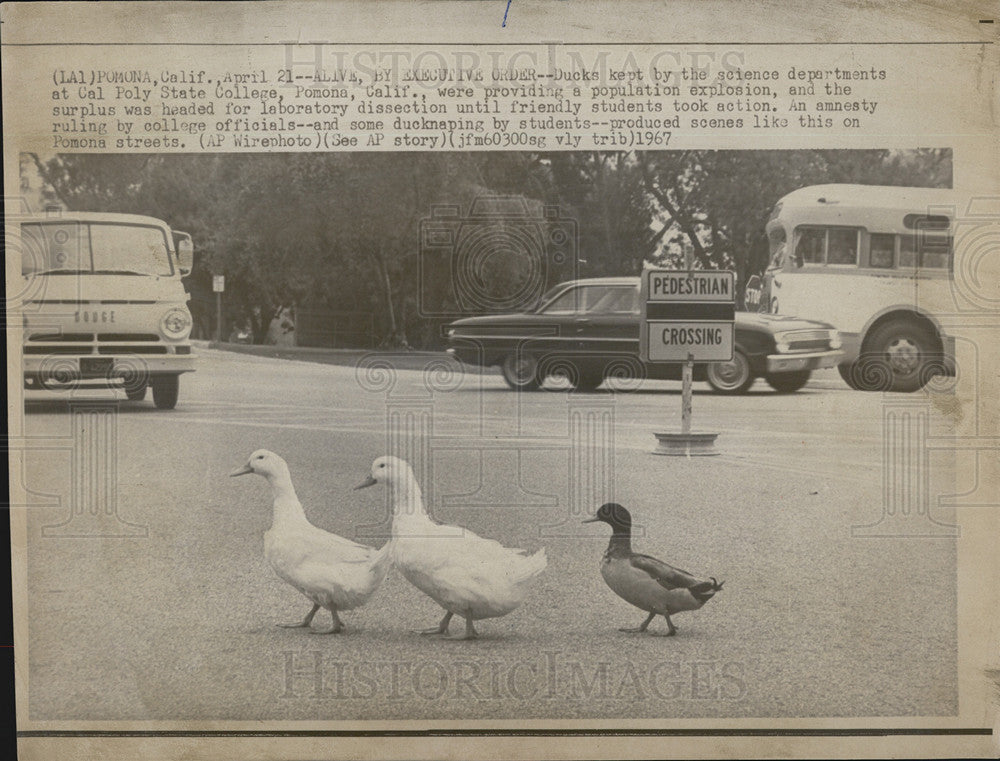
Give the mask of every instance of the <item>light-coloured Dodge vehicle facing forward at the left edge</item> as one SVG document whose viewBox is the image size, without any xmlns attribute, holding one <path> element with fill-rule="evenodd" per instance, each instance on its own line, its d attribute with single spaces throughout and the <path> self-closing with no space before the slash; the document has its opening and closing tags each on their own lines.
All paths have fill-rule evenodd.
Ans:
<svg viewBox="0 0 1000 761">
<path fill-rule="evenodd" d="M 24 217 L 24 383 L 28 389 L 122 388 L 159 409 L 177 404 L 194 370 L 191 313 L 181 277 L 191 236 L 133 214 Z"/>
</svg>

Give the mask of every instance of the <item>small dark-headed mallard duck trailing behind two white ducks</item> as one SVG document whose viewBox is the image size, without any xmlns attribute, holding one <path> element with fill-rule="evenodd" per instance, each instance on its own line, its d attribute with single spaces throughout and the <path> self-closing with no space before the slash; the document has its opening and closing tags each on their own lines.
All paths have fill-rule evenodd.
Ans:
<svg viewBox="0 0 1000 761">
<path fill-rule="evenodd" d="M 584 523 L 601 521 L 611 526 L 611 542 L 601 559 L 601 576 L 611 590 L 626 602 L 649 612 L 639 626 L 620 631 L 642 633 L 657 615 L 669 627 L 663 636 L 677 633 L 670 616 L 685 610 L 698 610 L 722 589 L 723 582 L 692 576 L 649 555 L 632 552 L 632 516 L 615 502 L 601 505 L 597 515 Z"/>
</svg>

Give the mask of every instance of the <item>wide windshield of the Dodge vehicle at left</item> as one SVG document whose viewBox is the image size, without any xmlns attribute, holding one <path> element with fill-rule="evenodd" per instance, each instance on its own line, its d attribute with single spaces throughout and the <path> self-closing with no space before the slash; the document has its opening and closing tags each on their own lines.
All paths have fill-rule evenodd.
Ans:
<svg viewBox="0 0 1000 761">
<path fill-rule="evenodd" d="M 37 222 L 21 225 L 21 274 L 173 275 L 165 232 L 152 225 Z"/>
</svg>

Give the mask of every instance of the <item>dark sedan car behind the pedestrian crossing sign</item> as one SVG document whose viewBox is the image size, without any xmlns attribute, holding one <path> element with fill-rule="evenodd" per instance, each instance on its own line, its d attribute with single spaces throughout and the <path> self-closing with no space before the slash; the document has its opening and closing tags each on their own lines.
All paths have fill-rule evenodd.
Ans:
<svg viewBox="0 0 1000 761">
<path fill-rule="evenodd" d="M 566 378 L 586 391 L 607 378 L 678 380 L 680 363 L 639 359 L 639 278 L 560 283 L 531 312 L 467 317 L 448 326 L 448 352 L 467 364 L 500 367 L 513 389 Z M 736 313 L 729 362 L 695 364 L 694 379 L 722 394 L 739 394 L 763 377 L 772 388 L 802 388 L 811 372 L 836 367 L 840 336 L 832 325 L 749 312 Z"/>
</svg>

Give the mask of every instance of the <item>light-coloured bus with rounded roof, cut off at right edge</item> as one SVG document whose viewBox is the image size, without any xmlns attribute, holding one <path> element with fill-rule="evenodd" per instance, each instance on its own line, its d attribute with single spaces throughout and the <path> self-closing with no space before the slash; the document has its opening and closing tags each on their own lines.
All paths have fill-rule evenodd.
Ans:
<svg viewBox="0 0 1000 761">
<path fill-rule="evenodd" d="M 762 311 L 829 322 L 855 389 L 915 391 L 954 374 L 950 190 L 814 185 L 784 196 L 767 222 Z"/>
</svg>

